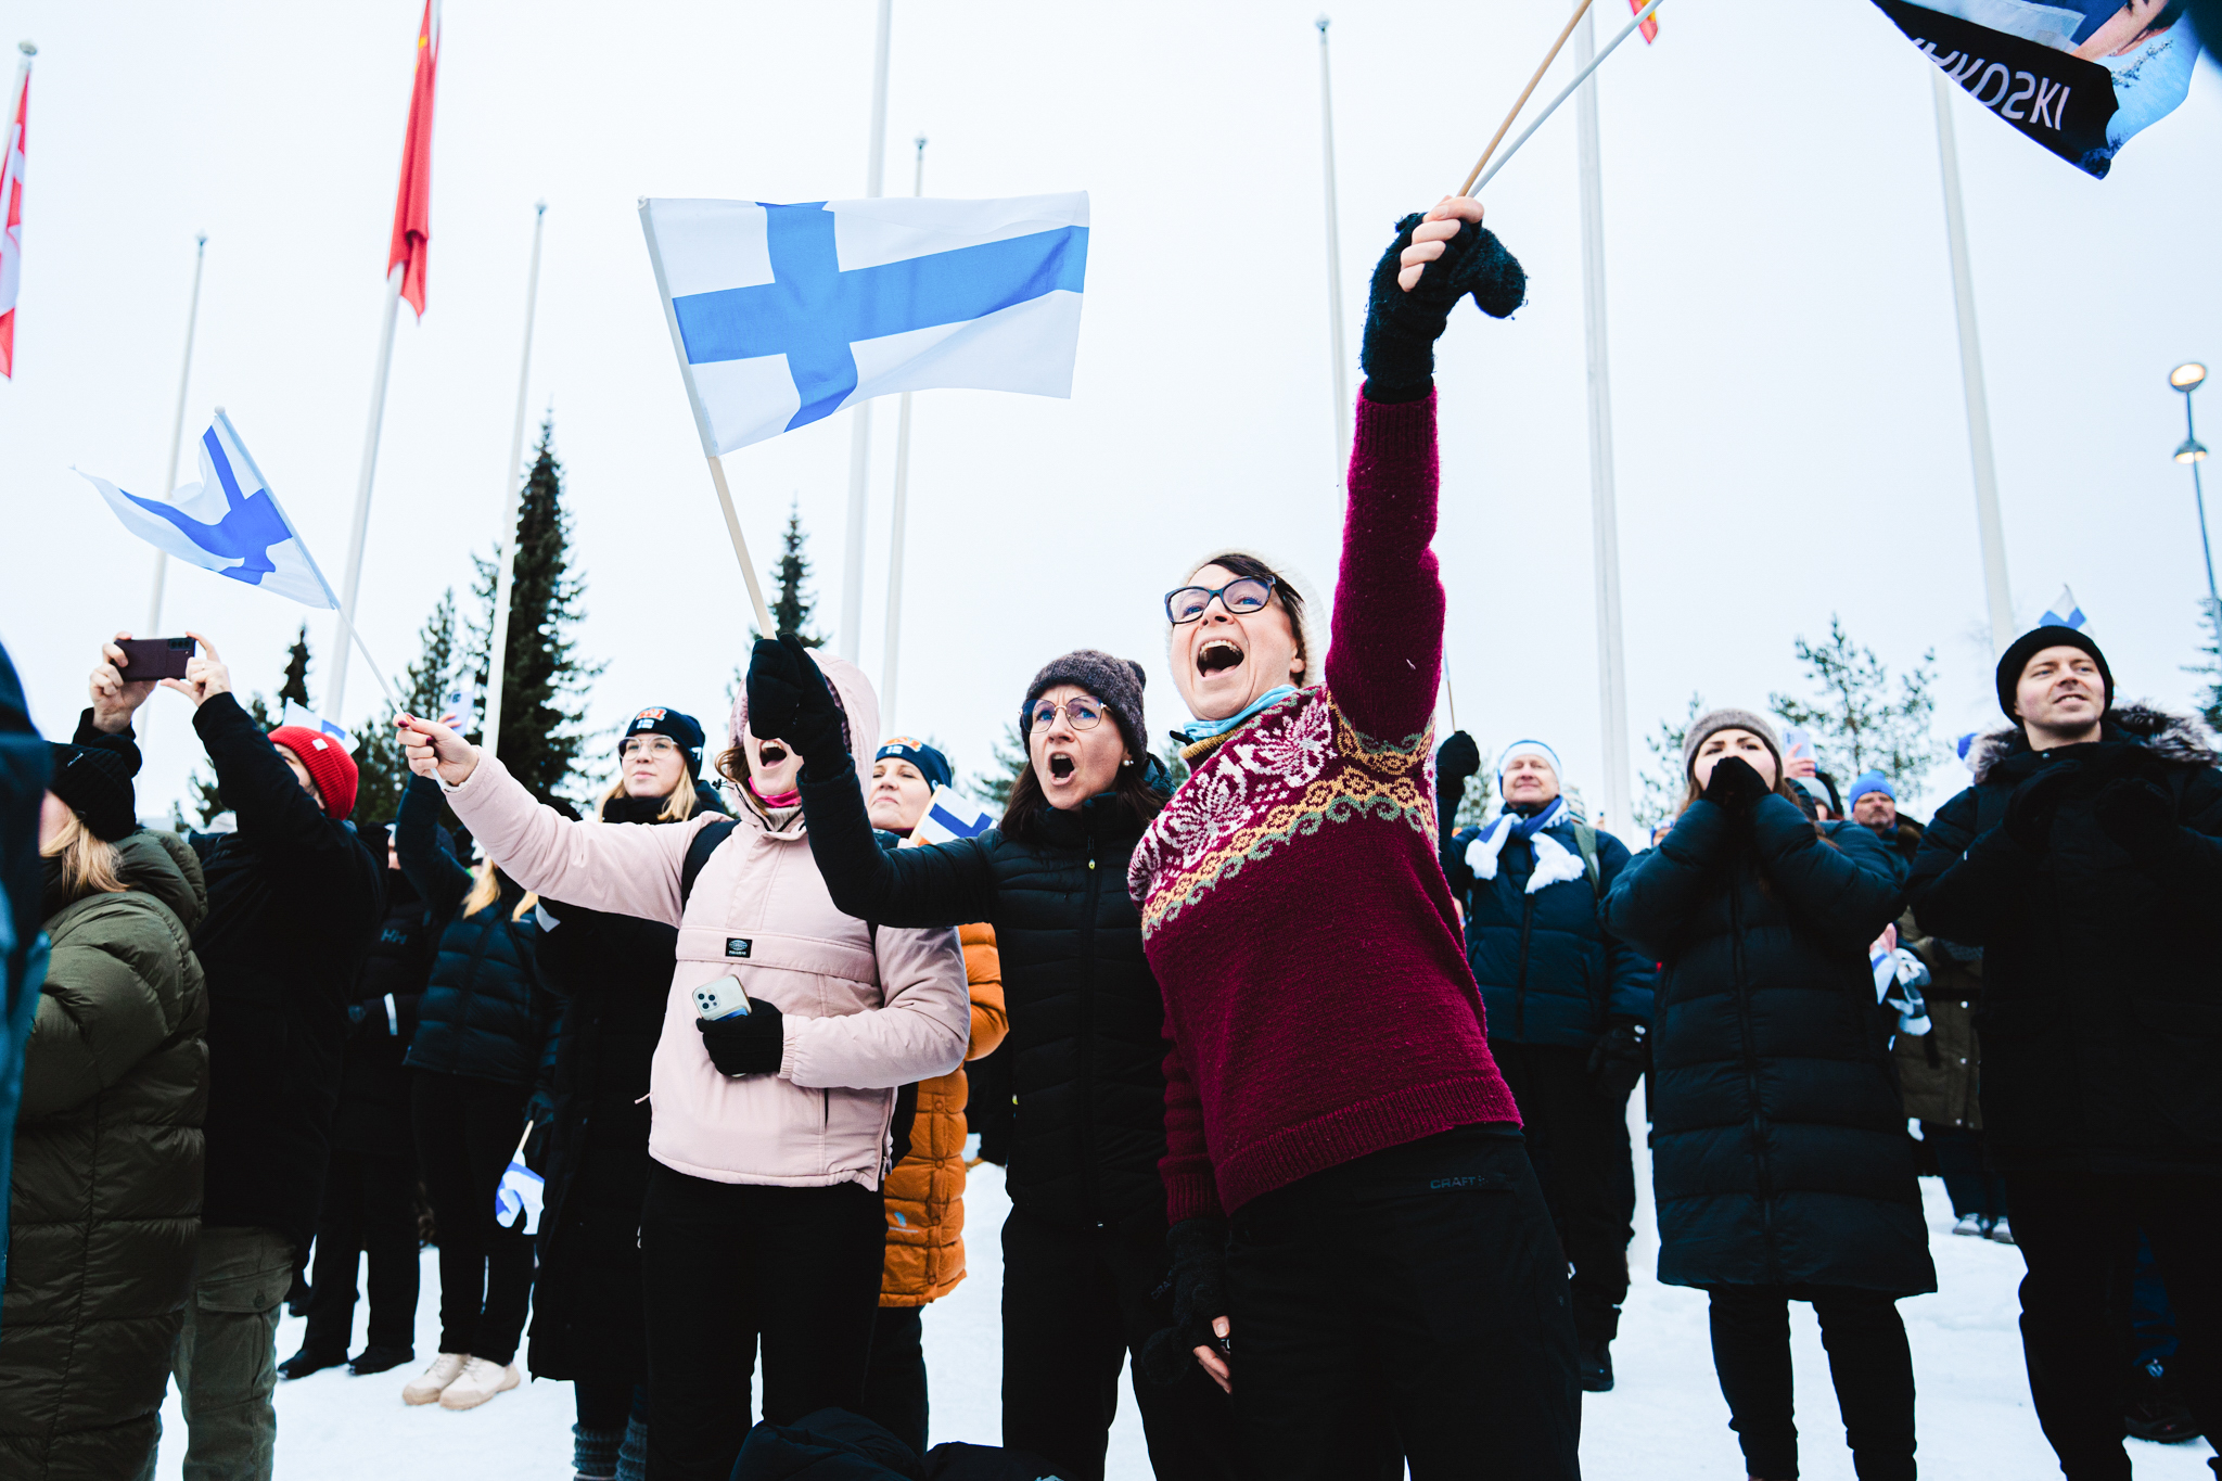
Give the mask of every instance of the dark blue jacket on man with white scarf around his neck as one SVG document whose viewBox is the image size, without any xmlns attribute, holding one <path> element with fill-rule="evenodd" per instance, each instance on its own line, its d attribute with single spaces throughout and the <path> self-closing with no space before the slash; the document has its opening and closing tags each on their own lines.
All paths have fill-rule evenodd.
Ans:
<svg viewBox="0 0 2222 1481">
<path fill-rule="evenodd" d="M 1444 819 L 1447 824 L 1449 819 Z M 1587 1048 L 1611 1019 L 1651 1021 L 1651 959 L 1613 939 L 1602 924 L 1607 890 L 1629 864 L 1629 848 L 1611 833 L 1598 835 L 1598 868 L 1580 879 L 1558 879 L 1529 893 L 1535 848 L 1507 837 L 1491 879 L 1475 877 L 1467 848 L 1480 828 L 1444 826 L 1442 873 L 1467 908 L 1467 961 L 1482 986 L 1489 1037 L 1511 1044 Z M 1542 830 L 1580 859 L 1573 819 Z"/>
</svg>

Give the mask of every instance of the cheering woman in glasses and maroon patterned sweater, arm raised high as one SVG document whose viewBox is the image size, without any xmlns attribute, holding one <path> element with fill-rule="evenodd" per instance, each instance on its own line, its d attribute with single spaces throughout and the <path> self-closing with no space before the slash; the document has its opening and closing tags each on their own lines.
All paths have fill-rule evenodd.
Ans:
<svg viewBox="0 0 2222 1481">
<path fill-rule="evenodd" d="M 1435 862 L 1433 342 L 1527 286 L 1480 222 L 1411 215 L 1373 273 L 1324 684 L 1264 562 L 1167 597 L 1195 773 L 1127 877 L 1171 1041 L 1151 1368 L 1200 1361 L 1275 1481 L 1580 1474 L 1567 1263 Z"/>
</svg>

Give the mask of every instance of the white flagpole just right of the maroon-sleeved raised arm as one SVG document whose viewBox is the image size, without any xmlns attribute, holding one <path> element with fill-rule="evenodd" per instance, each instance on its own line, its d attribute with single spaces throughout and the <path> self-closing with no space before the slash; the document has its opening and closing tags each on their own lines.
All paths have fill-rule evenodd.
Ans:
<svg viewBox="0 0 2222 1481">
<path fill-rule="evenodd" d="M 1595 22 L 1582 16 L 1575 62 L 1595 56 Z M 1604 182 L 1598 151 L 1598 80 L 1575 98 L 1582 160 L 1582 322 L 1589 349 L 1589 526 L 1598 580 L 1598 719 L 1604 731 L 1604 822 L 1629 822 L 1629 677 L 1620 644 L 1620 506 L 1613 493 L 1613 375 L 1604 322 Z"/>
</svg>

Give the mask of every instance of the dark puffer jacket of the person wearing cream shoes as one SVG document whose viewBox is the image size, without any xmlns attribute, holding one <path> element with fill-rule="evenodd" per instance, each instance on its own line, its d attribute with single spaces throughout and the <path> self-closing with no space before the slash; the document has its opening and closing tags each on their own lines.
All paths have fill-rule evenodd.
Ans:
<svg viewBox="0 0 2222 1481">
<path fill-rule="evenodd" d="M 440 848 L 438 815 L 440 784 L 409 777 L 393 817 L 393 853 L 402 875 L 442 926 L 404 1064 L 411 1070 L 531 1086 L 540 1077 L 556 1017 L 553 999 L 533 995 L 540 924 L 531 910 L 518 919 L 524 890 L 509 875 L 500 877 L 502 890 L 491 906 L 458 919 L 473 879 L 471 870 Z"/>
</svg>

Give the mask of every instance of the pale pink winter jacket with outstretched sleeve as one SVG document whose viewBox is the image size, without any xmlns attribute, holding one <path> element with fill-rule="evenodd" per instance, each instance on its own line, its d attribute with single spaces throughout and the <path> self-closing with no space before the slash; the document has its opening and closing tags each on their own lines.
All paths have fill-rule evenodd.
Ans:
<svg viewBox="0 0 2222 1481">
<path fill-rule="evenodd" d="M 818 666 L 849 715 L 849 750 L 864 773 L 878 735 L 871 686 L 842 659 Z M 744 722 L 747 695 L 733 704 L 735 735 Z M 971 997 L 955 930 L 873 930 L 835 910 L 800 815 L 773 833 L 740 808 L 682 913 L 687 846 L 713 815 L 664 826 L 569 822 L 489 755 L 447 799 L 524 888 L 680 928 L 649 1075 L 655 1161 L 720 1183 L 880 1186 L 895 1088 L 964 1061 Z M 778 1075 L 729 1079 L 709 1061 L 693 990 L 727 973 L 784 1015 Z"/>
</svg>

